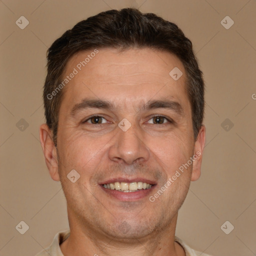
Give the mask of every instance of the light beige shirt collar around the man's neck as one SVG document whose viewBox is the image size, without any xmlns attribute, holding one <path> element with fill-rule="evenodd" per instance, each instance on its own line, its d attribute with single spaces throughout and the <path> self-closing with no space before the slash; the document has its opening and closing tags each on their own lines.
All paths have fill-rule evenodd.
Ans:
<svg viewBox="0 0 256 256">
<path fill-rule="evenodd" d="M 41 250 L 35 256 L 64 256 L 60 250 L 59 244 L 61 244 L 69 236 L 69 234 L 69 229 L 56 233 L 50 246 Z M 191 249 L 177 236 L 175 236 L 175 241 L 178 242 L 183 247 L 186 256 L 210 256 L 208 254 Z"/>
</svg>

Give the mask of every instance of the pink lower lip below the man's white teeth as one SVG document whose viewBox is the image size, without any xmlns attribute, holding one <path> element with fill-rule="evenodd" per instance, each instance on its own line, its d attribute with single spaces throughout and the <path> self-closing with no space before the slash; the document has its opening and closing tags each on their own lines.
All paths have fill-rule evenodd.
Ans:
<svg viewBox="0 0 256 256">
<path fill-rule="evenodd" d="M 148 196 L 148 194 L 152 192 L 152 190 L 155 186 L 152 185 L 148 189 L 139 189 L 135 192 L 122 192 L 122 191 L 118 191 L 115 189 L 105 188 L 102 185 L 100 185 L 100 187 L 108 195 L 110 195 L 111 197 L 115 197 L 116 199 L 118 199 L 120 201 L 136 201 L 136 200 L 139 200 L 139 199 L 142 199 L 142 198 Z"/>
</svg>

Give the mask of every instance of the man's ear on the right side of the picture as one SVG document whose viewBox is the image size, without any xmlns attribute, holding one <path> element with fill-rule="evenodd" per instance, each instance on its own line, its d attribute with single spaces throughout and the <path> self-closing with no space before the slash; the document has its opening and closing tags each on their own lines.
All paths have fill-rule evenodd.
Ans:
<svg viewBox="0 0 256 256">
<path fill-rule="evenodd" d="M 205 143 L 205 126 L 201 125 L 197 138 L 195 140 L 195 144 L 194 144 L 194 161 L 193 161 L 191 181 L 195 181 L 200 177 L 204 143 Z"/>
</svg>

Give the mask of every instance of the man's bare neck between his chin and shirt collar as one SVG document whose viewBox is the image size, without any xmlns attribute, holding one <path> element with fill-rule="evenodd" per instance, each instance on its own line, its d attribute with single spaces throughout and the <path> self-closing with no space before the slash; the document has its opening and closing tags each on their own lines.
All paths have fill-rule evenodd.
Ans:
<svg viewBox="0 0 256 256">
<path fill-rule="evenodd" d="M 68 218 L 69 237 L 60 244 L 64 256 L 185 256 L 183 248 L 174 242 L 177 214 L 169 226 L 154 231 L 140 238 L 116 238 L 97 230 L 89 225 Z"/>
</svg>

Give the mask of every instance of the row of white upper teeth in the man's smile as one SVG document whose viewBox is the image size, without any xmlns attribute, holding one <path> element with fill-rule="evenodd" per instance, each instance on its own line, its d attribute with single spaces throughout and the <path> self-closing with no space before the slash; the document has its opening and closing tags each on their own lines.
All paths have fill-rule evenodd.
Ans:
<svg viewBox="0 0 256 256">
<path fill-rule="evenodd" d="M 137 189 L 147 189 L 151 187 L 151 184 L 145 183 L 145 182 L 114 182 L 114 183 L 108 183 L 103 184 L 105 188 L 109 189 L 115 189 L 115 190 L 122 190 L 124 192 L 130 192 L 135 191 Z"/>
</svg>

